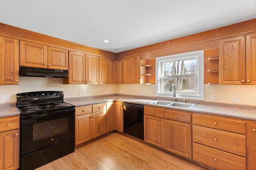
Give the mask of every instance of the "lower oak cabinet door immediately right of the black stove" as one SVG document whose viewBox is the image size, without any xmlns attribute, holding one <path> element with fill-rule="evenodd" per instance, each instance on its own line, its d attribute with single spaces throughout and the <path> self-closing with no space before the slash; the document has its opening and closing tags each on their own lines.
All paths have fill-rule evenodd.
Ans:
<svg viewBox="0 0 256 170">
<path fill-rule="evenodd" d="M 76 117 L 75 145 L 92 139 L 92 114 Z"/>
</svg>

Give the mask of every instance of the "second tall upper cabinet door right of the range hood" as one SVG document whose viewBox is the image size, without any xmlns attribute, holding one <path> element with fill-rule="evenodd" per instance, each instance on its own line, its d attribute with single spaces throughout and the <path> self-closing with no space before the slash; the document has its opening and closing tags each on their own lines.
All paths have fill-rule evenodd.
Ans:
<svg viewBox="0 0 256 170">
<path fill-rule="evenodd" d="M 86 55 L 86 84 L 99 84 L 99 57 Z"/>
</svg>

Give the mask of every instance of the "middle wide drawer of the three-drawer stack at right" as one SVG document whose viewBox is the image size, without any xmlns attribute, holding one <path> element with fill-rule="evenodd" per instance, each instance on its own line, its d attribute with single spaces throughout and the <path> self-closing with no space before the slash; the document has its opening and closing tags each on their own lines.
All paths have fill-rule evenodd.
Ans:
<svg viewBox="0 0 256 170">
<path fill-rule="evenodd" d="M 244 135 L 193 125 L 193 142 L 246 157 Z"/>
</svg>

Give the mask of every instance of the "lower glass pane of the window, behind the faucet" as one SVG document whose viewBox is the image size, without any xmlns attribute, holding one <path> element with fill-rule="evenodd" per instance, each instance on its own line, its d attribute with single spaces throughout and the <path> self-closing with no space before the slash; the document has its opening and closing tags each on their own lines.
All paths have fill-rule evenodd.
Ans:
<svg viewBox="0 0 256 170">
<path fill-rule="evenodd" d="M 191 77 L 165 77 L 162 91 L 169 91 L 171 84 L 175 84 L 176 92 L 196 93 L 196 76 Z M 174 91 L 174 88 L 172 88 Z"/>
</svg>

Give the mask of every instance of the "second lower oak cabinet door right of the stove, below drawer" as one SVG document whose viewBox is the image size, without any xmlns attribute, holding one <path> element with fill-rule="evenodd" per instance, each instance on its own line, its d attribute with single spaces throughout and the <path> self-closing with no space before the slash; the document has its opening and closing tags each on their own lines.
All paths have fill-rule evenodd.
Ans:
<svg viewBox="0 0 256 170">
<path fill-rule="evenodd" d="M 92 138 L 106 133 L 106 111 L 92 113 Z"/>
</svg>

